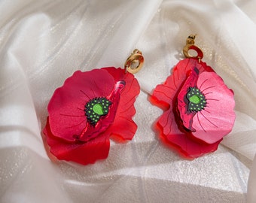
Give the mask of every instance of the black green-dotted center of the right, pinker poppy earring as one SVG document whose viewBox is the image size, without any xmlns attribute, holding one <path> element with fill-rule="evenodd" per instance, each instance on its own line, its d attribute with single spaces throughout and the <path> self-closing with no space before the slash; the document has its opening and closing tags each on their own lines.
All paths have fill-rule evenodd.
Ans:
<svg viewBox="0 0 256 203">
<path fill-rule="evenodd" d="M 189 88 L 187 92 L 188 105 L 187 109 L 190 112 L 202 111 L 206 107 L 206 96 L 197 87 Z"/>
</svg>

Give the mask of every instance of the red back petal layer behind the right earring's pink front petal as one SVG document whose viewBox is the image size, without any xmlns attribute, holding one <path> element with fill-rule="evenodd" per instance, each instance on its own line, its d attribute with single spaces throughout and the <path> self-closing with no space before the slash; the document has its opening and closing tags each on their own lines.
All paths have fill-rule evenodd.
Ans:
<svg viewBox="0 0 256 203">
<path fill-rule="evenodd" d="M 154 89 L 151 98 L 158 105 L 169 106 L 169 110 L 164 112 L 157 122 L 157 126 L 160 127 L 162 132 L 161 135 L 169 144 L 175 145 L 175 148 L 178 148 L 182 154 L 193 158 L 217 150 L 221 141 L 220 139 L 214 144 L 206 144 L 194 138 L 190 132 L 184 129 L 182 120 L 177 112 L 178 93 L 194 68 L 197 68 L 199 73 L 213 71 L 205 62 L 199 63 L 197 59 L 184 59 L 173 68 L 172 74 L 167 77 L 166 82 Z M 193 82 L 191 81 L 191 83 Z"/>
</svg>

